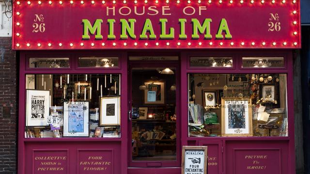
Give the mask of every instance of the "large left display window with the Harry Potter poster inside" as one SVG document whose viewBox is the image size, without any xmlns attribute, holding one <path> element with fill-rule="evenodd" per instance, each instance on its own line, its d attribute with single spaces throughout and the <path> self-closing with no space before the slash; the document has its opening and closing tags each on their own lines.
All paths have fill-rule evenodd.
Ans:
<svg viewBox="0 0 310 174">
<path fill-rule="evenodd" d="M 25 138 L 120 137 L 121 74 L 27 74 Z"/>
</svg>

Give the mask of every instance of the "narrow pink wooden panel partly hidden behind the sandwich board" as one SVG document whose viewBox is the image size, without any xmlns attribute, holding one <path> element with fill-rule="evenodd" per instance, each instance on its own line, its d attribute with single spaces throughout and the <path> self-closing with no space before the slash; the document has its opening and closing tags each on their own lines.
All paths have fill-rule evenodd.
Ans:
<svg viewBox="0 0 310 174">
<path fill-rule="evenodd" d="M 222 141 L 198 141 L 198 145 L 208 146 L 208 174 L 222 174 Z"/>
</svg>

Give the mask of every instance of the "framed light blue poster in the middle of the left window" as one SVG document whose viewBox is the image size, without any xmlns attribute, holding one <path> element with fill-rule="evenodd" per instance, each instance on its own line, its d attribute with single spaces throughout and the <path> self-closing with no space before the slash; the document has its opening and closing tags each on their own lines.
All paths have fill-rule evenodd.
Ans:
<svg viewBox="0 0 310 174">
<path fill-rule="evenodd" d="M 89 102 L 63 103 L 63 136 L 89 136 Z"/>
</svg>

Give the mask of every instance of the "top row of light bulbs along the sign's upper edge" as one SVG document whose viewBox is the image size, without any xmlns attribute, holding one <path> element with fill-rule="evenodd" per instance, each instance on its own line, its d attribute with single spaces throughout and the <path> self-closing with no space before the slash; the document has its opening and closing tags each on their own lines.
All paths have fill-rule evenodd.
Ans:
<svg viewBox="0 0 310 174">
<path fill-rule="evenodd" d="M 260 1 L 261 1 L 262 4 L 265 3 L 265 0 L 260 0 Z M 91 2 L 92 2 L 92 4 L 95 3 L 94 0 L 92 0 Z M 115 3 L 116 3 L 116 0 L 113 0 L 112 2 L 113 2 L 113 4 L 115 4 Z M 135 3 L 138 3 L 138 0 L 134 0 L 134 2 L 135 2 Z M 144 3 L 147 3 L 147 2 L 148 2 L 147 0 L 144 0 Z M 198 3 L 201 3 L 201 2 L 202 2 L 201 0 L 198 0 Z M 212 2 L 212 0 L 208 0 L 208 3 L 211 3 L 211 2 Z M 284 4 L 284 3 L 286 3 L 286 0 L 282 0 L 281 2 Z M 296 3 L 296 0 L 293 0 L 292 2 L 293 2 L 293 3 Z M 16 3 L 17 3 L 17 5 L 20 5 L 20 4 L 21 4 L 20 1 L 17 1 Z M 27 3 L 30 5 L 30 4 L 31 4 L 31 1 L 27 1 Z M 48 3 L 49 3 L 49 4 L 52 4 L 53 2 L 52 2 L 51 0 L 49 0 Z M 62 3 L 63 3 L 62 0 L 60 0 L 59 3 L 62 4 Z M 73 4 L 73 0 L 70 0 L 70 3 Z M 83 3 L 84 3 L 84 0 L 81 0 L 80 3 L 83 4 Z M 103 0 L 102 3 L 105 4 L 106 1 Z M 127 3 L 127 1 L 126 1 L 126 0 L 123 0 L 123 3 Z M 158 0 L 155 0 L 155 3 L 158 3 Z M 166 0 L 166 3 L 169 3 L 169 0 Z M 177 0 L 176 3 L 180 3 L 180 0 Z M 191 1 L 190 1 L 190 0 L 187 0 L 187 3 L 191 3 Z M 223 0 L 218 0 L 218 3 L 220 3 L 220 4 L 223 3 Z M 233 0 L 230 0 L 229 3 L 233 3 Z M 244 3 L 244 0 L 240 0 L 240 3 Z M 253 3 L 254 3 L 254 0 L 250 0 L 250 3 L 253 4 Z M 276 0 L 272 0 L 271 3 L 276 3 Z M 39 0 L 39 1 L 38 1 L 38 4 L 42 4 L 42 1 Z"/>
</svg>

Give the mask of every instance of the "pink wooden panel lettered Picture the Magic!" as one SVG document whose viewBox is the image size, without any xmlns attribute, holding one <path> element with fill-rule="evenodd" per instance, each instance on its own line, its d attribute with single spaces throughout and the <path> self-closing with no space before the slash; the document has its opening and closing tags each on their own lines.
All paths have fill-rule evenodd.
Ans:
<svg viewBox="0 0 310 174">
<path fill-rule="evenodd" d="M 289 174 L 289 142 L 226 141 L 226 174 Z"/>
</svg>

